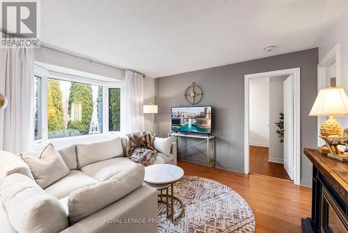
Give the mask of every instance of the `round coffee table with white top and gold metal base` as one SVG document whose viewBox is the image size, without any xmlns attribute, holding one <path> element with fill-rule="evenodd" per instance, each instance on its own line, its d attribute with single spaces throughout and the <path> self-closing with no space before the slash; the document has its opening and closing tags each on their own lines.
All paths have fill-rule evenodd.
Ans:
<svg viewBox="0 0 348 233">
<path fill-rule="evenodd" d="M 184 176 L 184 170 L 181 167 L 170 164 L 155 164 L 145 167 L 145 177 L 144 181 L 148 186 L 156 188 L 160 191 L 158 202 L 166 204 L 167 218 L 171 220 L 181 218 L 182 213 L 184 213 L 184 204 L 182 201 L 174 196 L 174 186 L 173 184 L 182 179 Z M 171 194 L 169 195 L 168 188 L 171 187 Z M 166 190 L 166 194 L 163 194 L 163 190 Z M 166 201 L 163 200 L 163 197 L 166 197 Z M 169 202 L 169 197 L 171 197 L 171 202 Z M 179 216 L 174 218 L 174 200 L 181 205 L 181 211 Z M 168 209 L 171 209 L 169 213 Z"/>
</svg>

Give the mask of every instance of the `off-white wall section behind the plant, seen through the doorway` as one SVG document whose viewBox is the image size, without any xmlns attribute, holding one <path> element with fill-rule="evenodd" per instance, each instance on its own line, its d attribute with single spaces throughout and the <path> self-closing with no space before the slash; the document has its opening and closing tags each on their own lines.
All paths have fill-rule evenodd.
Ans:
<svg viewBox="0 0 348 233">
<path fill-rule="evenodd" d="M 279 113 L 284 113 L 283 84 L 287 76 L 269 78 L 269 162 L 283 163 L 284 143 L 279 142 L 278 126 Z"/>
</svg>

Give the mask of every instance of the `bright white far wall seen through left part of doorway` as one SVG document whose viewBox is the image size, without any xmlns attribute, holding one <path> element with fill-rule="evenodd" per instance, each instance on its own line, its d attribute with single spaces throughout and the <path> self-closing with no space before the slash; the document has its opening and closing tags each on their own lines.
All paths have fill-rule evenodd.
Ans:
<svg viewBox="0 0 348 233">
<path fill-rule="evenodd" d="M 249 144 L 269 146 L 269 77 L 249 82 Z"/>
</svg>

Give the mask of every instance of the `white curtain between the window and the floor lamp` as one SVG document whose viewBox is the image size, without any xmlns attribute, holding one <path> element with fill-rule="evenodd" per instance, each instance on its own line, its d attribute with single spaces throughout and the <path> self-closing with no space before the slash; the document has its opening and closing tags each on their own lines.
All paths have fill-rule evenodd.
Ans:
<svg viewBox="0 0 348 233">
<path fill-rule="evenodd" d="M 143 132 L 143 75 L 126 70 L 125 73 L 125 105 L 122 121 L 122 133 Z"/>
</svg>

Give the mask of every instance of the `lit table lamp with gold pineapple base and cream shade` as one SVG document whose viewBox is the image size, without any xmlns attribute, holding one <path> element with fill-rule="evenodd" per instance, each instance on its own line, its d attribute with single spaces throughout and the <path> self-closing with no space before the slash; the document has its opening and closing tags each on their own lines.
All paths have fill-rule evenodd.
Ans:
<svg viewBox="0 0 348 233">
<path fill-rule="evenodd" d="M 338 143 L 344 144 L 344 140 L 348 141 L 348 135 L 343 135 L 340 123 L 335 120 L 336 116 L 348 115 L 348 98 L 345 90 L 342 87 L 328 87 L 320 90 L 309 115 L 329 116 L 319 129 L 319 137 L 326 142 L 327 147 L 321 146 L 319 151 L 328 153 L 331 158 L 346 160 L 344 158 L 347 155 L 342 154 L 337 146 Z M 347 144 L 345 145 L 347 147 Z"/>
</svg>

